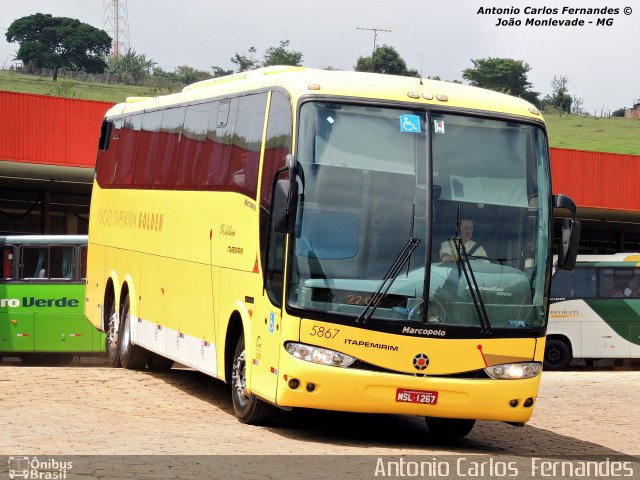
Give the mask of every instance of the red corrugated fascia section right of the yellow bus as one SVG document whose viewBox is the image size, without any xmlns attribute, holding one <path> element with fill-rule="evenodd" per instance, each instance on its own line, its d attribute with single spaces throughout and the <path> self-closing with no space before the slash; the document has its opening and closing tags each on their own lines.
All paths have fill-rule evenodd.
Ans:
<svg viewBox="0 0 640 480">
<path fill-rule="evenodd" d="M 640 210 L 640 155 L 552 148 L 551 175 L 579 207 Z"/>
</svg>

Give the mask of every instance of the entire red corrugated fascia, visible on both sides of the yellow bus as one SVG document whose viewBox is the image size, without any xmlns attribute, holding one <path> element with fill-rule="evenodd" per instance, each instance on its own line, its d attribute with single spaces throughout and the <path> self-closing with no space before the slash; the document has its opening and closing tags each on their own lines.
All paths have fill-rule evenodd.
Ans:
<svg viewBox="0 0 640 480">
<path fill-rule="evenodd" d="M 0 91 L 0 160 L 93 168 L 108 102 Z M 554 193 L 640 211 L 640 156 L 551 149 Z"/>
</svg>

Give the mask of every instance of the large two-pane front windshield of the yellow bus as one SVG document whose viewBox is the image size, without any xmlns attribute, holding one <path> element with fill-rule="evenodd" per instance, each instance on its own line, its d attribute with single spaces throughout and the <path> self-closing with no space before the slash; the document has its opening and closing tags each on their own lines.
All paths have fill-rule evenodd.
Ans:
<svg viewBox="0 0 640 480">
<path fill-rule="evenodd" d="M 297 159 L 290 307 L 361 320 L 387 278 L 374 322 L 544 327 L 551 192 L 541 128 L 308 102 Z"/>
</svg>

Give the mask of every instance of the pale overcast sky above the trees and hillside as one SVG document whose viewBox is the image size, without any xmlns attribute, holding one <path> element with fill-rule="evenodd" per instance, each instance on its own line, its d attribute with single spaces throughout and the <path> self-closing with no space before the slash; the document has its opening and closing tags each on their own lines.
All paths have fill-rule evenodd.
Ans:
<svg viewBox="0 0 640 480">
<path fill-rule="evenodd" d="M 569 94 L 581 98 L 583 110 L 591 115 L 628 108 L 640 99 L 640 0 L 125 3 L 130 46 L 167 71 L 179 65 L 209 72 L 213 65 L 232 69 L 230 58 L 236 52 L 249 55 L 249 48 L 255 47 L 254 58 L 262 59 L 267 48 L 282 40 L 302 52 L 306 67 L 352 70 L 358 57 L 373 50 L 374 32 L 361 29 L 375 28 L 390 30 L 377 33 L 377 45 L 394 47 L 408 68 L 421 71 L 424 77 L 463 80 L 462 72 L 473 66 L 472 59 L 512 58 L 531 67 L 528 79 L 541 97 L 551 93 L 554 76 L 568 77 Z M 563 14 L 565 7 L 607 7 L 618 12 Z M 108 31 L 105 10 L 105 0 L 0 0 L 0 67 L 8 68 L 18 49 L 5 37 L 15 19 L 49 13 Z M 612 25 L 598 26 L 599 18 L 612 19 Z M 520 25 L 500 26 L 499 19 L 513 19 Z M 527 26 L 527 19 L 577 19 L 584 25 Z"/>
</svg>

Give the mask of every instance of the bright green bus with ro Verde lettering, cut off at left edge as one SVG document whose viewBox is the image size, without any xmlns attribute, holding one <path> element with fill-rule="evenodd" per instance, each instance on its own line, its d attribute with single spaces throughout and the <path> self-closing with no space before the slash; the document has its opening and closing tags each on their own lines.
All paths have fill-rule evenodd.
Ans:
<svg viewBox="0 0 640 480">
<path fill-rule="evenodd" d="M 104 334 L 84 315 L 86 235 L 1 236 L 0 252 L 0 358 L 64 364 L 104 354 Z"/>
</svg>

